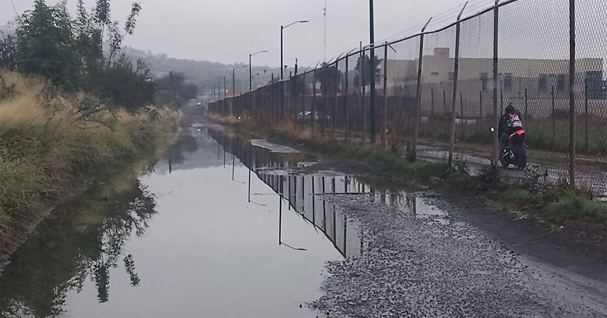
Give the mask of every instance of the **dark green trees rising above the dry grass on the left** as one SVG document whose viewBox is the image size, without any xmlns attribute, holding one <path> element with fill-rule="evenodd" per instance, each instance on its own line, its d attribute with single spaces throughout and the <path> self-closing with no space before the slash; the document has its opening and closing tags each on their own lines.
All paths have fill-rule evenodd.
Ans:
<svg viewBox="0 0 607 318">
<path fill-rule="evenodd" d="M 138 111 L 152 103 L 154 83 L 143 60 L 133 64 L 120 51 L 124 38 L 134 32 L 140 11 L 141 5 L 134 2 L 121 28 L 111 20 L 110 0 L 97 0 L 90 13 L 78 0 L 75 19 L 70 18 L 66 1 L 49 6 L 36 0 L 33 10 L 19 19 L 15 36 L 3 36 L 0 65 L 45 76 L 66 91 L 91 91 Z M 109 46 L 107 55 L 104 43 Z"/>
</svg>

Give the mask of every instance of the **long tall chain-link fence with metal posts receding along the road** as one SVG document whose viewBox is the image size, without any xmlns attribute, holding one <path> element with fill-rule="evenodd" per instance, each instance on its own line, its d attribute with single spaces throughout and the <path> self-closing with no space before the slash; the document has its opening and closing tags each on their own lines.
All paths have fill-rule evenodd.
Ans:
<svg viewBox="0 0 607 318">
<path fill-rule="evenodd" d="M 602 0 L 502 0 L 438 30 L 427 30 L 441 22 L 430 19 L 416 35 L 361 44 L 208 110 L 479 170 L 497 164 L 498 121 L 512 105 L 527 167 L 607 196 L 606 12 Z"/>
</svg>

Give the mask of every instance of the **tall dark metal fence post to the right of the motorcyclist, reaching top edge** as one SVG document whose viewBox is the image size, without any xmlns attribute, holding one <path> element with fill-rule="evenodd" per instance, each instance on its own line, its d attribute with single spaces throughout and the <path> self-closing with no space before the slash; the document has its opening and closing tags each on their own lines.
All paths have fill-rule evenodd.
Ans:
<svg viewBox="0 0 607 318">
<path fill-rule="evenodd" d="M 569 184 L 575 188 L 575 0 L 569 0 Z"/>
</svg>

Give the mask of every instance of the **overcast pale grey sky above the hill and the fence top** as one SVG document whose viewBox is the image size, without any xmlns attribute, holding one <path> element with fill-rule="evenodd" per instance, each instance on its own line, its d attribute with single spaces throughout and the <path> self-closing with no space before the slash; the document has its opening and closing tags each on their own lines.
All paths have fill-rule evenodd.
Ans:
<svg viewBox="0 0 607 318">
<path fill-rule="evenodd" d="M 54 4 L 57 0 L 47 0 Z M 76 0 L 68 0 L 75 13 Z M 94 0 L 84 1 L 92 7 Z M 248 63 L 248 54 L 269 50 L 254 56 L 254 65 L 280 64 L 280 25 L 297 20 L 310 20 L 284 31 L 285 64 L 314 66 L 323 59 L 324 0 L 140 0 L 141 14 L 135 34 L 125 45 L 152 53 L 166 53 L 174 58 L 198 61 Z M 435 18 L 429 27 L 455 20 L 458 5 L 464 0 L 375 0 L 375 39 Z M 493 0 L 471 0 L 464 15 L 478 12 Z M 33 0 L 13 0 L 22 13 L 32 8 Z M 112 1 L 112 18 L 123 22 L 132 1 Z M 327 59 L 342 51 L 369 42 L 368 0 L 327 0 Z M 0 24 L 13 21 L 11 0 L 0 0 Z M 421 26 L 416 27 L 416 29 Z M 410 32 L 411 33 L 411 32 Z"/>
</svg>

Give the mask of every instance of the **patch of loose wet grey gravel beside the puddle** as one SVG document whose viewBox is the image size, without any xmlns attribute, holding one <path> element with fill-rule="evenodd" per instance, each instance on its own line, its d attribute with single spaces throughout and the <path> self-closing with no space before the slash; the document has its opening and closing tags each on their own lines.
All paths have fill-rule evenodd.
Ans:
<svg viewBox="0 0 607 318">
<path fill-rule="evenodd" d="M 361 222 L 361 256 L 328 262 L 326 317 L 602 317 L 547 287 L 523 257 L 459 220 L 415 217 L 371 196 L 326 195 Z M 437 199 L 426 199 L 430 204 Z M 445 208 L 448 208 L 445 206 Z"/>
</svg>

